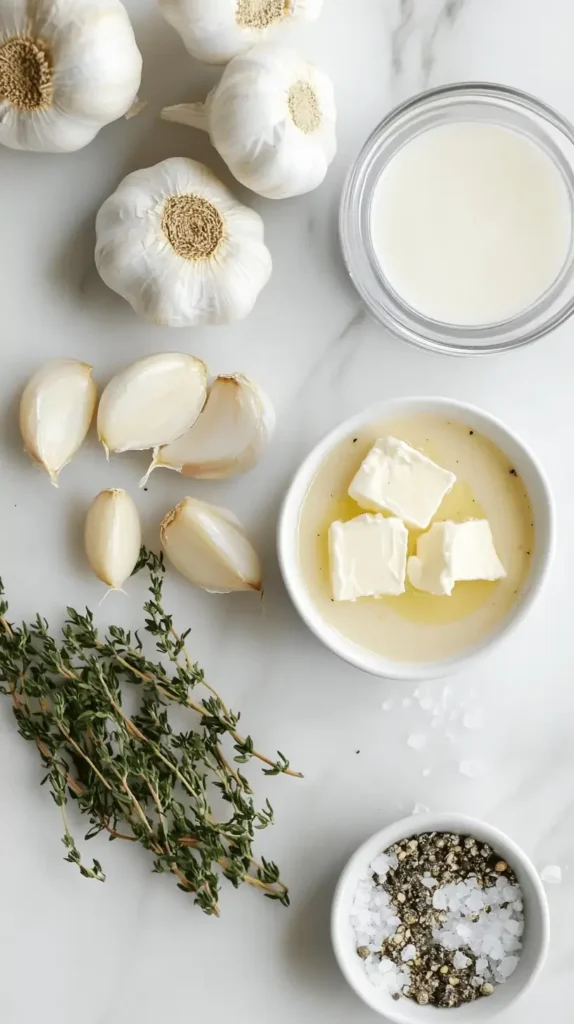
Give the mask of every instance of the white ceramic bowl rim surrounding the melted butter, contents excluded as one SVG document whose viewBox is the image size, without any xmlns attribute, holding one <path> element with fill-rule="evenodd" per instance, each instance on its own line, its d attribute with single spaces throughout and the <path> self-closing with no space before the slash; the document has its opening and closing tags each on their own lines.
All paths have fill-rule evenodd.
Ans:
<svg viewBox="0 0 574 1024">
<path fill-rule="evenodd" d="M 368 650 L 324 621 L 307 590 L 299 564 L 298 529 L 307 490 L 326 457 L 345 437 L 370 423 L 408 416 L 439 416 L 463 423 L 494 442 L 516 466 L 524 480 L 536 531 L 536 547 L 524 590 L 509 614 L 480 643 L 454 657 L 437 662 L 395 662 Z M 299 614 L 321 642 L 344 660 L 373 676 L 418 681 L 457 672 L 469 662 L 490 650 L 526 616 L 546 577 L 554 550 L 554 502 L 545 475 L 530 449 L 499 420 L 475 406 L 451 398 L 392 398 L 359 413 L 333 430 L 313 449 L 298 470 L 288 490 L 279 516 L 277 548 L 285 587 Z"/>
</svg>

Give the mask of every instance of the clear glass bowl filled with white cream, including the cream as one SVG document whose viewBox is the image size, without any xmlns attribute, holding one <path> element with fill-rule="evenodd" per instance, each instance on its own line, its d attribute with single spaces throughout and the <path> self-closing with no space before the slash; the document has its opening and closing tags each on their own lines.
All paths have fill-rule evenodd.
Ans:
<svg viewBox="0 0 574 1024">
<path fill-rule="evenodd" d="M 517 89 L 414 96 L 365 142 L 341 203 L 369 311 L 414 344 L 514 348 L 574 311 L 574 129 Z"/>
</svg>

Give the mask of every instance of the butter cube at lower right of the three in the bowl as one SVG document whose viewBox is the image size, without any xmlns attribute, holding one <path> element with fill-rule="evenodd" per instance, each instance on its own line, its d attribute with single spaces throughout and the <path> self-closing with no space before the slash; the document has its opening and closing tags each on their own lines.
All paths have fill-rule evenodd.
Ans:
<svg viewBox="0 0 574 1024">
<path fill-rule="evenodd" d="M 486 519 L 435 522 L 416 542 L 408 579 L 417 590 L 450 595 L 462 580 L 501 580 L 506 573 Z"/>
</svg>

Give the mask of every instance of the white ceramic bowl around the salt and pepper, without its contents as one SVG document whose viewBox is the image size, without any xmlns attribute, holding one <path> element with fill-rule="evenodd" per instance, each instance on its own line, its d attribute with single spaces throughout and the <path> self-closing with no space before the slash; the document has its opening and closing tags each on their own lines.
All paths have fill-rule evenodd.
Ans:
<svg viewBox="0 0 574 1024">
<path fill-rule="evenodd" d="M 492 995 L 483 996 L 456 1009 L 420 1007 L 412 999 L 393 999 L 369 982 L 362 961 L 357 955 L 351 906 L 359 879 L 368 874 L 374 857 L 393 843 L 426 831 L 450 831 L 474 836 L 488 843 L 495 853 L 515 871 L 524 894 L 525 928 L 518 967 L 503 985 L 496 985 Z M 530 988 L 540 973 L 549 942 L 549 914 L 546 895 L 536 868 L 512 839 L 484 821 L 475 821 L 461 814 L 416 814 L 395 821 L 388 828 L 371 836 L 351 857 L 335 890 L 330 915 L 330 936 L 337 962 L 345 979 L 371 1010 L 383 1014 L 395 1024 L 429 1024 L 443 1020 L 455 1024 L 484 1024 Z"/>
</svg>

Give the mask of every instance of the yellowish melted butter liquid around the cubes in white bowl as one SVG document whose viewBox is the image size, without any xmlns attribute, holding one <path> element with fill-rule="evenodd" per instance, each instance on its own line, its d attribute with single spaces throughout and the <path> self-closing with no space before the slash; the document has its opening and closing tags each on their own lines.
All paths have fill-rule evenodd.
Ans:
<svg viewBox="0 0 574 1024">
<path fill-rule="evenodd" d="M 364 511 L 347 490 L 369 449 L 385 434 L 407 441 L 456 474 L 433 522 L 488 519 L 505 580 L 458 583 L 450 597 L 416 591 L 407 581 L 406 592 L 398 597 L 332 600 L 328 527 Z M 421 532 L 409 529 L 409 554 Z M 356 643 L 398 660 L 448 657 L 491 632 L 517 600 L 533 550 L 530 501 L 507 458 L 466 426 L 435 418 L 376 424 L 343 441 L 312 481 L 300 517 L 301 567 L 323 617 Z"/>
</svg>

